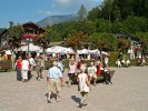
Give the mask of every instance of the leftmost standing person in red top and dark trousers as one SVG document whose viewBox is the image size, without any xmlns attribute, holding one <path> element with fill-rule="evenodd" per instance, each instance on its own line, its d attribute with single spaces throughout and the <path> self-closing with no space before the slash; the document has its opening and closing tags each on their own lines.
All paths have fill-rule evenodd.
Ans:
<svg viewBox="0 0 148 111">
<path fill-rule="evenodd" d="M 21 57 L 18 58 L 17 62 L 16 62 L 16 70 L 17 70 L 17 80 L 21 81 Z"/>
</svg>

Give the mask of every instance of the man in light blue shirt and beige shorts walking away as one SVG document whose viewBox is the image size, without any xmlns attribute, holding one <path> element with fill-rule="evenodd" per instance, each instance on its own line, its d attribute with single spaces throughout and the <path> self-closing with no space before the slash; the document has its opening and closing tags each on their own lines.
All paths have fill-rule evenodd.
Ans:
<svg viewBox="0 0 148 111">
<path fill-rule="evenodd" d="M 48 85 L 48 103 L 51 103 L 51 95 L 56 89 L 57 102 L 60 101 L 60 91 L 62 85 L 62 72 L 58 68 L 58 61 L 53 61 L 53 67 L 51 67 L 47 73 L 47 85 Z"/>
</svg>

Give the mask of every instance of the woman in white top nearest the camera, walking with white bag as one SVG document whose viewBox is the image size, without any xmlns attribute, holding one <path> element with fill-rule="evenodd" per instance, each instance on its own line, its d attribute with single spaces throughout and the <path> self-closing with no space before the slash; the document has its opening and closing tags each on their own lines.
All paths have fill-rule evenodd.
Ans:
<svg viewBox="0 0 148 111">
<path fill-rule="evenodd" d="M 81 101 L 80 101 L 79 108 L 82 108 L 82 107 L 87 105 L 87 103 L 85 103 L 85 102 L 87 100 L 88 92 L 90 90 L 88 75 L 86 73 L 86 68 L 85 67 L 81 68 L 81 72 L 78 75 L 78 82 L 79 82 L 78 88 L 79 88 L 79 91 L 80 91 L 80 94 L 81 94 Z"/>
</svg>

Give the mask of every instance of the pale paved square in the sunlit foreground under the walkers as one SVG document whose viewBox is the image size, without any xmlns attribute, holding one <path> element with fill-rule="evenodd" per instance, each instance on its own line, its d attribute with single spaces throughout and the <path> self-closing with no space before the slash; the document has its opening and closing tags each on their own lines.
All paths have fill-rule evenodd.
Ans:
<svg viewBox="0 0 148 111">
<path fill-rule="evenodd" d="M 148 68 L 116 69 L 114 84 L 92 87 L 86 108 L 78 108 L 77 85 L 62 88 L 60 102 L 46 101 L 46 78 L 27 83 L 16 72 L 0 72 L 0 111 L 148 111 Z"/>
</svg>

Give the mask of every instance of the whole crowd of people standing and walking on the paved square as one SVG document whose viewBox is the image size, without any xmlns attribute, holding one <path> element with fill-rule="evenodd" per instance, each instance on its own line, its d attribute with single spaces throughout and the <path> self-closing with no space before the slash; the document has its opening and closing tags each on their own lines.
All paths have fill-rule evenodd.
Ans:
<svg viewBox="0 0 148 111">
<path fill-rule="evenodd" d="M 37 71 L 37 80 L 43 78 L 43 56 L 40 54 L 34 59 L 31 56 L 26 58 L 19 57 L 16 62 L 17 68 L 17 80 L 27 82 L 31 79 L 31 71 L 36 68 Z M 49 68 L 47 75 L 47 87 L 48 87 L 48 95 L 47 101 L 51 103 L 52 94 L 56 90 L 57 94 L 57 102 L 60 101 L 61 97 L 61 89 L 65 85 L 65 65 L 62 63 L 62 59 L 55 60 L 52 67 Z M 86 60 L 83 59 L 76 59 L 73 56 L 69 59 L 69 67 L 68 67 L 68 87 L 70 88 L 73 81 L 78 83 L 78 90 L 81 94 L 81 101 L 79 103 L 79 108 L 87 105 L 86 100 L 88 97 L 89 91 L 91 90 L 91 85 L 97 84 L 98 77 L 102 75 L 103 81 L 106 84 L 111 82 L 110 70 L 108 68 L 108 59 L 107 57 L 103 58 L 101 62 L 100 59 L 96 61 L 91 61 L 90 65 L 87 65 Z"/>
</svg>

